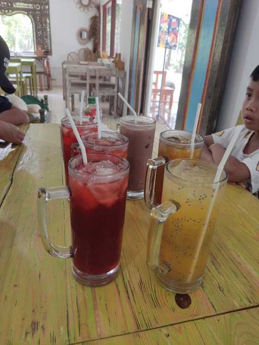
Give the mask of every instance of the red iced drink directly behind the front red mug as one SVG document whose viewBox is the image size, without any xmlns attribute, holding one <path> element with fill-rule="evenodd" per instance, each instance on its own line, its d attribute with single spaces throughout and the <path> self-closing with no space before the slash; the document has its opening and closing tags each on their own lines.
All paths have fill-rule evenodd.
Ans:
<svg viewBox="0 0 259 345">
<path fill-rule="evenodd" d="M 98 139 L 97 133 L 93 133 L 90 136 L 83 135 L 82 141 L 87 153 L 102 151 L 127 158 L 128 138 L 125 135 L 115 132 L 101 132 L 101 138 Z"/>
</svg>

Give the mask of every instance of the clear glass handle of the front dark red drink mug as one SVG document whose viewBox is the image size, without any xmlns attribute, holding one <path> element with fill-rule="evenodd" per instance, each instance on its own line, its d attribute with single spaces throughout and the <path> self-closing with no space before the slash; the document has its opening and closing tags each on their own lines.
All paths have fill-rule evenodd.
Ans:
<svg viewBox="0 0 259 345">
<path fill-rule="evenodd" d="M 58 258 L 73 257 L 72 247 L 61 247 L 51 242 L 46 221 L 46 206 L 50 200 L 66 198 L 69 201 L 70 192 L 67 186 L 53 188 L 38 188 L 38 226 L 40 237 L 46 251 Z"/>
</svg>

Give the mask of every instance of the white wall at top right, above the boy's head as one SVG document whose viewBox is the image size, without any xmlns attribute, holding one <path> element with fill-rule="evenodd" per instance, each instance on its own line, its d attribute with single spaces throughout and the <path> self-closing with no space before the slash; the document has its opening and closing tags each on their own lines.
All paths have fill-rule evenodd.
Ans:
<svg viewBox="0 0 259 345">
<path fill-rule="evenodd" d="M 217 129 L 235 126 L 249 75 L 259 65 L 259 1 L 243 2 Z"/>
</svg>

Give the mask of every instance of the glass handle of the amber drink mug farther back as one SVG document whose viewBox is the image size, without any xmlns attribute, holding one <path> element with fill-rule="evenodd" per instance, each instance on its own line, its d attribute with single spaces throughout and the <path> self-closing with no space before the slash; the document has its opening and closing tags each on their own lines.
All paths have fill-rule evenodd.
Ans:
<svg viewBox="0 0 259 345">
<path fill-rule="evenodd" d="M 155 196 L 155 178 L 157 167 L 164 165 L 166 163 L 163 157 L 158 157 L 155 159 L 149 159 L 147 162 L 146 169 L 146 180 L 145 180 L 145 203 L 149 210 L 152 210 L 154 205 Z"/>
</svg>

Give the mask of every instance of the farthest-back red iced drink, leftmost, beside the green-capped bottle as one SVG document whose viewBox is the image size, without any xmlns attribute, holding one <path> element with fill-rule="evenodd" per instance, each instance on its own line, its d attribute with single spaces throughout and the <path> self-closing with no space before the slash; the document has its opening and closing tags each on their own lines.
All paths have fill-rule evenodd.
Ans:
<svg viewBox="0 0 259 345">
<path fill-rule="evenodd" d="M 94 118 L 83 116 L 83 121 L 81 125 L 79 122 L 79 116 L 73 116 L 73 120 L 80 136 L 97 132 L 97 123 Z M 68 183 L 68 161 L 71 158 L 71 145 L 74 142 L 77 142 L 73 129 L 67 117 L 64 117 L 61 120 L 61 131 L 62 131 L 62 145 L 63 145 L 63 160 L 64 160 L 64 165 L 65 165 L 65 175 L 66 175 L 66 184 L 67 184 Z"/>
</svg>

